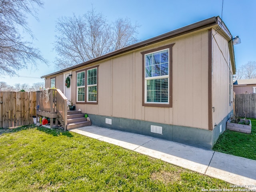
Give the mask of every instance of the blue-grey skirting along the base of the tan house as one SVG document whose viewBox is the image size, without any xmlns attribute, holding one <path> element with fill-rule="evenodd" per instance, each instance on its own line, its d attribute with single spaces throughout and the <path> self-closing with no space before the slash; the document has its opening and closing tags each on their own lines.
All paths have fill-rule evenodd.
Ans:
<svg viewBox="0 0 256 192">
<path fill-rule="evenodd" d="M 200 148 L 212 149 L 220 134 L 226 130 L 228 114 L 213 130 L 169 125 L 156 122 L 88 114 L 93 125 L 170 140 Z M 220 132 L 221 128 L 221 132 Z"/>
</svg>

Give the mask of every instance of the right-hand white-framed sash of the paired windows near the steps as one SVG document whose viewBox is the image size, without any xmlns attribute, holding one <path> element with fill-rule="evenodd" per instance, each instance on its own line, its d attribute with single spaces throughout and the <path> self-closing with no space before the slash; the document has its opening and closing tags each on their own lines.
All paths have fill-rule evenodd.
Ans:
<svg viewBox="0 0 256 192">
<path fill-rule="evenodd" d="M 97 68 L 87 70 L 87 102 L 97 102 Z"/>
</svg>

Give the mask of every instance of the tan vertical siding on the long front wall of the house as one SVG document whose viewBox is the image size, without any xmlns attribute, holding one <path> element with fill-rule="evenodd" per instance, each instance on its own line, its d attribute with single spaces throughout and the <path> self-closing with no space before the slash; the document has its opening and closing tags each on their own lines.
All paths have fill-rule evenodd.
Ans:
<svg viewBox="0 0 256 192">
<path fill-rule="evenodd" d="M 141 52 L 174 43 L 173 107 L 142 106 Z M 166 40 L 98 62 L 98 105 L 77 104 L 82 112 L 180 126 L 208 128 L 208 31 Z M 90 65 L 91 67 L 92 65 Z M 89 66 L 88 66 L 89 67 Z M 77 70 L 80 70 L 79 68 Z M 76 89 L 73 74 L 72 89 Z M 72 92 L 75 100 L 76 93 Z"/>
</svg>

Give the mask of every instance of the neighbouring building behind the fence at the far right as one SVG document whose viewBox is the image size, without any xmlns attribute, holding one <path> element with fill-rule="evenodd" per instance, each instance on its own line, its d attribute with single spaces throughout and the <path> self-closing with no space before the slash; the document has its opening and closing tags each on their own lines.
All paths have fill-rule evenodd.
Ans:
<svg viewBox="0 0 256 192">
<path fill-rule="evenodd" d="M 236 94 L 256 93 L 256 79 L 240 79 L 234 81 Z"/>
</svg>

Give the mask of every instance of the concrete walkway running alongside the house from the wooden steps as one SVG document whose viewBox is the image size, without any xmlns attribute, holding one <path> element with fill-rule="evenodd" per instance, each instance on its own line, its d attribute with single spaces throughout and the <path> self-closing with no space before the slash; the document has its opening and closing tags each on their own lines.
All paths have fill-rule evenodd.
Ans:
<svg viewBox="0 0 256 192">
<path fill-rule="evenodd" d="M 256 160 L 98 126 L 70 131 L 161 159 L 233 185 L 256 190 Z"/>
</svg>

